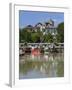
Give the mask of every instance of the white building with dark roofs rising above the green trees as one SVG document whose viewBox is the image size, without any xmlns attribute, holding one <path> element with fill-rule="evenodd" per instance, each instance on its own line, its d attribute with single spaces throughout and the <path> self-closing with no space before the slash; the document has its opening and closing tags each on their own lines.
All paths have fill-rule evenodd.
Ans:
<svg viewBox="0 0 72 90">
<path fill-rule="evenodd" d="M 54 21 L 52 19 L 50 19 L 48 22 L 45 22 L 43 24 L 37 23 L 35 25 L 35 31 L 37 32 L 38 30 L 43 32 L 44 35 L 48 33 L 51 33 L 52 35 L 57 34 L 57 28 L 54 26 Z"/>
</svg>

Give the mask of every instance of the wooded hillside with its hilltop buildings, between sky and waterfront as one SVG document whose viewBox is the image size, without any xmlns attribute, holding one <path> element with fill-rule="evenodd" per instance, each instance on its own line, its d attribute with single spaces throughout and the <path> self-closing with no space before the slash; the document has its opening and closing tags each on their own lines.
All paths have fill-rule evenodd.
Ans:
<svg viewBox="0 0 72 90">
<path fill-rule="evenodd" d="M 35 26 L 27 25 L 19 30 L 19 42 L 27 43 L 63 43 L 64 22 L 54 25 L 52 19 L 45 23 L 37 23 Z"/>
</svg>

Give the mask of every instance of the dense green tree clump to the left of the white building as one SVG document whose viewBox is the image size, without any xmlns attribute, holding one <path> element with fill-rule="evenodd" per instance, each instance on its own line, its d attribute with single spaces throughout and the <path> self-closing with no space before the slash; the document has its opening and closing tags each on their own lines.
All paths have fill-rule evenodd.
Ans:
<svg viewBox="0 0 72 90">
<path fill-rule="evenodd" d="M 40 42 L 40 40 L 43 37 L 42 32 L 38 30 L 37 32 L 32 32 L 31 30 L 24 28 L 22 30 L 19 30 L 19 41 L 20 42 Z"/>
</svg>

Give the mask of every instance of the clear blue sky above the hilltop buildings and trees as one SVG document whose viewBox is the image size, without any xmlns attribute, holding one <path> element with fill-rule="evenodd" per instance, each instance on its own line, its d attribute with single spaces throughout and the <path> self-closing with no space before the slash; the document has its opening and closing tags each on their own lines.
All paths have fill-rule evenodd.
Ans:
<svg viewBox="0 0 72 90">
<path fill-rule="evenodd" d="M 19 11 L 19 28 L 27 25 L 35 26 L 38 22 L 44 23 L 49 19 L 55 22 L 55 26 L 64 22 L 64 13 L 61 12 L 40 12 L 40 11 Z"/>
</svg>

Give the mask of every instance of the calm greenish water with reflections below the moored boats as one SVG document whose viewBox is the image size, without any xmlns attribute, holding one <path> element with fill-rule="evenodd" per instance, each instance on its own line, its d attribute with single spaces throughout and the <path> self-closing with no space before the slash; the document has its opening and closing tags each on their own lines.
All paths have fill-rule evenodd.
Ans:
<svg viewBox="0 0 72 90">
<path fill-rule="evenodd" d="M 47 78 L 64 76 L 63 53 L 49 55 L 24 55 L 20 57 L 19 78 Z"/>
</svg>

